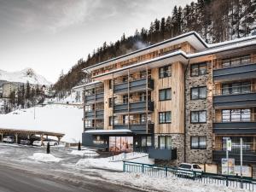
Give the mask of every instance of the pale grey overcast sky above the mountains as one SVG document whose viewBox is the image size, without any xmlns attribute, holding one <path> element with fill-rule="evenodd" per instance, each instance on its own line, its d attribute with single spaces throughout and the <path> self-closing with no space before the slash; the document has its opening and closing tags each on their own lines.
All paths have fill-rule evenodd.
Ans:
<svg viewBox="0 0 256 192">
<path fill-rule="evenodd" d="M 148 28 L 191 0 L 0 0 L 0 69 L 32 67 L 55 83 L 79 60 L 123 32 Z"/>
</svg>

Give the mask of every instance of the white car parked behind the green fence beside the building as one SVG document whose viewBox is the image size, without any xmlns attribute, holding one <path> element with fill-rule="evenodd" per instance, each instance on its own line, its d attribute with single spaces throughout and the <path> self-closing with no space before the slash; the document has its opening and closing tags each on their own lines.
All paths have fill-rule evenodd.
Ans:
<svg viewBox="0 0 256 192">
<path fill-rule="evenodd" d="M 178 166 L 177 176 L 178 177 L 201 177 L 203 170 L 197 164 L 182 163 Z"/>
</svg>

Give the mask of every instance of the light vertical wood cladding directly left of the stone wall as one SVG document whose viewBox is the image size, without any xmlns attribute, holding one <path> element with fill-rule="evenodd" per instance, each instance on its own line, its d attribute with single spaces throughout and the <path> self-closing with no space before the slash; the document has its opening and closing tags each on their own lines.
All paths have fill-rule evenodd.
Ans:
<svg viewBox="0 0 256 192">
<path fill-rule="evenodd" d="M 154 133 L 183 133 L 184 132 L 184 76 L 183 64 L 172 63 L 172 76 L 159 78 L 159 69 L 152 70 L 154 79 L 154 90 L 152 97 L 154 100 Z M 159 101 L 159 90 L 171 88 L 172 99 Z M 159 113 L 171 111 L 172 123 L 159 124 Z"/>
</svg>

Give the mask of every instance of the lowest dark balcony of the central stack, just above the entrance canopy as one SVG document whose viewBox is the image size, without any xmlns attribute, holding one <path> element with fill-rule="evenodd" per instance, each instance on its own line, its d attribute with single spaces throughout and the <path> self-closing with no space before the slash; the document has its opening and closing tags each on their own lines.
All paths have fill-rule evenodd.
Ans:
<svg viewBox="0 0 256 192">
<path fill-rule="evenodd" d="M 135 134 L 147 134 L 147 124 L 146 123 L 131 123 L 130 125 L 124 123 L 117 123 L 113 125 L 114 130 L 131 130 Z M 154 133 L 154 124 L 148 123 L 148 133 Z"/>
</svg>

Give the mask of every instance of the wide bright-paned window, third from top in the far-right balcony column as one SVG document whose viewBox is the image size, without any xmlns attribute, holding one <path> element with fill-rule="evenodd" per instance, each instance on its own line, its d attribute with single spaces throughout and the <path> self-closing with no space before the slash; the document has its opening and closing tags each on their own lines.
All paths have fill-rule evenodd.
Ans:
<svg viewBox="0 0 256 192">
<path fill-rule="evenodd" d="M 224 109 L 221 111 L 222 122 L 250 121 L 250 108 Z"/>
</svg>

